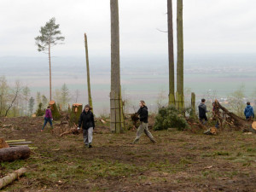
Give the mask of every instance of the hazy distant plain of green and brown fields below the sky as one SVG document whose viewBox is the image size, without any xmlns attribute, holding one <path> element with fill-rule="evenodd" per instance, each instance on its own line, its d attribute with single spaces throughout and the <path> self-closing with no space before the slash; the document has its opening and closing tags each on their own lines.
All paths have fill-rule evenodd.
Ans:
<svg viewBox="0 0 256 192">
<path fill-rule="evenodd" d="M 191 57 L 192 58 L 192 57 Z M 134 58 L 133 58 L 134 59 Z M 129 101 L 130 110 L 137 108 L 141 99 L 154 111 L 157 101 L 167 102 L 168 66 L 166 59 L 121 60 L 121 85 L 123 97 Z M 201 56 L 186 59 L 184 63 L 184 91 L 188 96 L 195 92 L 196 99 L 208 95 L 227 97 L 244 85 L 244 94 L 251 97 L 256 91 L 256 58 L 249 56 L 210 57 Z M 3 58 L 0 57 L 0 76 L 5 75 L 10 84 L 20 79 L 32 90 L 49 94 L 49 66 L 47 58 Z M 157 63 L 157 64 L 156 64 Z M 6 64 L 6 65 L 3 65 Z M 92 58 L 90 62 L 90 82 L 93 104 L 96 113 L 109 109 L 110 66 L 109 58 Z M 75 90 L 79 90 L 79 102 L 87 102 L 87 81 L 84 58 L 54 58 L 52 67 L 53 89 L 60 89 L 66 83 L 72 100 Z M 186 96 L 188 98 L 188 96 Z"/>
</svg>

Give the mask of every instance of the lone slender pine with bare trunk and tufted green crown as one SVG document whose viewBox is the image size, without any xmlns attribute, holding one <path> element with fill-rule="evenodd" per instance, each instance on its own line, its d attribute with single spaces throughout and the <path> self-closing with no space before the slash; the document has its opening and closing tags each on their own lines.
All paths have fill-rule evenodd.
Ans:
<svg viewBox="0 0 256 192">
<path fill-rule="evenodd" d="M 41 26 L 40 36 L 36 37 L 36 44 L 38 45 L 38 51 L 47 51 L 49 58 L 49 100 L 51 101 L 51 62 L 50 62 L 50 51 L 53 46 L 59 41 L 64 41 L 64 37 L 60 36 L 61 31 L 59 29 L 59 24 L 55 24 L 55 18 L 46 22 L 45 26 Z"/>
</svg>

